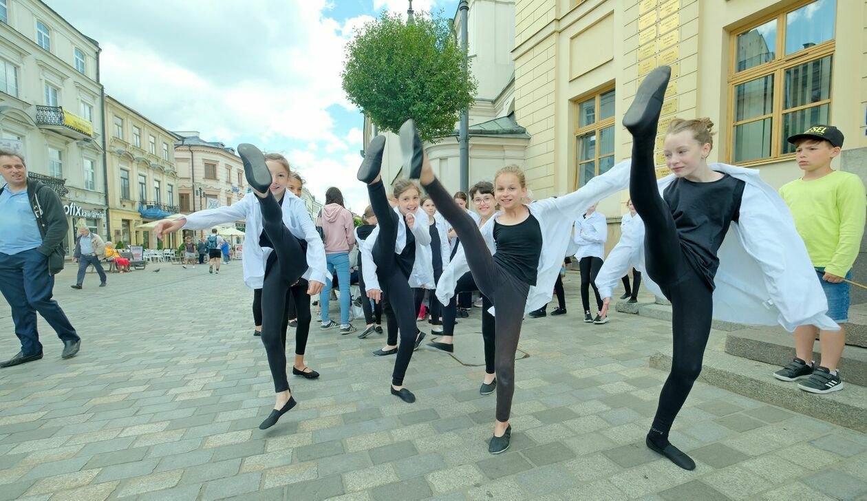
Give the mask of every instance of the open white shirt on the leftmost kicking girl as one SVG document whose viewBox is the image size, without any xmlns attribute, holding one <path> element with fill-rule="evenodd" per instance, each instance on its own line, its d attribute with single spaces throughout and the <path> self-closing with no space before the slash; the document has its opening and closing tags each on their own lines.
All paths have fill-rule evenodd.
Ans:
<svg viewBox="0 0 867 501">
<path fill-rule="evenodd" d="M 307 270 L 302 278 L 325 283 L 327 266 L 325 263 L 325 246 L 322 238 L 316 232 L 310 214 L 304 207 L 303 201 L 289 191 L 284 193 L 283 200 L 283 224 L 297 238 L 307 241 Z M 262 211 L 259 209 L 259 201 L 254 193 L 247 193 L 244 198 L 232 205 L 225 205 L 215 209 L 193 212 L 184 216 L 187 230 L 205 230 L 216 224 L 225 224 L 244 219 L 246 232 L 244 233 L 244 254 L 241 257 L 244 268 L 244 284 L 251 289 L 262 289 L 265 276 L 265 264 L 268 256 L 273 251 L 270 248 L 262 248 L 259 245 L 259 236 L 262 234 Z"/>
</svg>

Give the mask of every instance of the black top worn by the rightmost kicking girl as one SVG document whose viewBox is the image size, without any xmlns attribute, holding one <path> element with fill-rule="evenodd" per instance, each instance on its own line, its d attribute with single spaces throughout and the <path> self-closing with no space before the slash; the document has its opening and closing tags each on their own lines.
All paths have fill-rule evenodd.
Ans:
<svg viewBox="0 0 867 501">
<path fill-rule="evenodd" d="M 740 217 L 745 185 L 740 179 L 723 174 L 722 179 L 709 183 L 678 178 L 662 192 L 675 219 L 683 255 L 711 290 L 714 290 L 716 270 L 720 268 L 716 253 L 729 225 Z"/>
</svg>

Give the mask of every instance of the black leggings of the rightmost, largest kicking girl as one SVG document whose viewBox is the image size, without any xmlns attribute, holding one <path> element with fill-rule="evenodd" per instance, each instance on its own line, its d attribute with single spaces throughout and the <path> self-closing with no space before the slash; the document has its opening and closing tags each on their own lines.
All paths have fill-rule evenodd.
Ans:
<svg viewBox="0 0 867 501">
<path fill-rule="evenodd" d="M 633 137 L 629 197 L 644 221 L 644 257 L 649 277 L 671 302 L 674 341 L 668 374 L 653 428 L 668 434 L 689 390 L 701 373 L 701 360 L 714 313 L 713 290 L 681 251 L 675 219 L 656 185 L 655 136 Z"/>
</svg>

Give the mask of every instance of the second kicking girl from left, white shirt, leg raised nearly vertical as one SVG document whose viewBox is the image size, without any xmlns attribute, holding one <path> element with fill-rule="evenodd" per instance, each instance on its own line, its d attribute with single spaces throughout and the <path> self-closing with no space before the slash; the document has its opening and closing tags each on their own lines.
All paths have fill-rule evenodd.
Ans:
<svg viewBox="0 0 867 501">
<path fill-rule="evenodd" d="M 427 228 L 427 214 L 419 207 L 420 190 L 414 182 L 401 179 L 395 183 L 393 192 L 397 206 L 392 209 L 388 205 L 385 186 L 380 177 L 384 147 L 385 136 L 376 136 L 370 141 L 362 166 L 358 169 L 358 180 L 368 185 L 370 205 L 374 208 L 378 222 L 362 245 L 362 269 L 368 297 L 379 302 L 385 295 L 394 310 L 401 333 L 399 347 L 395 346 L 397 339 L 394 338 L 388 340 L 385 348 L 397 354 L 391 394 L 413 403 L 415 395 L 403 386 L 403 378 L 413 351 L 419 347 L 424 333 L 415 327 L 417 312 L 413 309 L 409 278 L 413 274 L 420 247 L 430 245 L 431 236 Z"/>
</svg>

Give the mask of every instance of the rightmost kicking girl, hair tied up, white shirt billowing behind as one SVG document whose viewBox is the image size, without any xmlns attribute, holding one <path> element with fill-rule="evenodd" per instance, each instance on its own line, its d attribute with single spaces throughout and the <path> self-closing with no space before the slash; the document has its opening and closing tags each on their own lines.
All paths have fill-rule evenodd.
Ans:
<svg viewBox="0 0 867 501">
<path fill-rule="evenodd" d="M 818 277 L 779 195 L 754 170 L 707 165 L 710 120 L 671 122 L 664 153 L 673 174 L 657 184 L 656 127 L 670 71 L 655 68 L 645 77 L 623 126 L 633 138 L 629 196 L 646 227 L 645 282 L 672 304 L 672 368 L 645 442 L 692 470 L 694 461 L 668 441 L 668 433 L 701 372 L 712 317 L 779 322 L 790 331 L 801 324 L 839 328 L 825 315 Z M 737 237 L 724 245 L 730 225 Z M 606 297 L 603 313 L 609 304 Z"/>
</svg>

